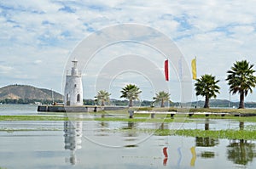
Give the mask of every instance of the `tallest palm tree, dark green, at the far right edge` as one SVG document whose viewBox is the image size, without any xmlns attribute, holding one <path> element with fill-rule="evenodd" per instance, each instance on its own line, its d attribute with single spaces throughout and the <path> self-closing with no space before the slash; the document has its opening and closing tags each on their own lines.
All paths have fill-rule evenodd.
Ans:
<svg viewBox="0 0 256 169">
<path fill-rule="evenodd" d="M 227 71 L 226 81 L 230 85 L 230 93 L 240 93 L 240 103 L 238 109 L 244 109 L 244 98 L 247 93 L 253 93 L 253 87 L 256 85 L 256 76 L 253 76 L 253 65 L 247 60 L 236 61 L 236 63 Z"/>
</svg>

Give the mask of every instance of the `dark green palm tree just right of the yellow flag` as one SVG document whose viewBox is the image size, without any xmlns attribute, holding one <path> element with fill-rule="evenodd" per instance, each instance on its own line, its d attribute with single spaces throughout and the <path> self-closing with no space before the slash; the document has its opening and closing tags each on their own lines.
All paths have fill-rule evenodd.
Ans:
<svg viewBox="0 0 256 169">
<path fill-rule="evenodd" d="M 215 76 L 212 75 L 203 75 L 200 79 L 196 79 L 195 82 L 195 91 L 196 96 L 201 95 L 205 96 L 205 105 L 204 108 L 209 108 L 209 100 L 213 97 L 216 98 L 216 93 L 219 93 L 220 87 L 218 87 L 215 81 Z"/>
</svg>

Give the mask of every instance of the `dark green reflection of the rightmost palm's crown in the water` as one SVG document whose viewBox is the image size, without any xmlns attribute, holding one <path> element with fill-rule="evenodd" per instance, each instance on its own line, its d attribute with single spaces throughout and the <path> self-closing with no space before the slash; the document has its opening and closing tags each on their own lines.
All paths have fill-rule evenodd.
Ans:
<svg viewBox="0 0 256 169">
<path fill-rule="evenodd" d="M 228 160 L 235 164 L 247 165 L 256 157 L 255 144 L 247 140 L 232 140 L 227 146 Z"/>
</svg>

